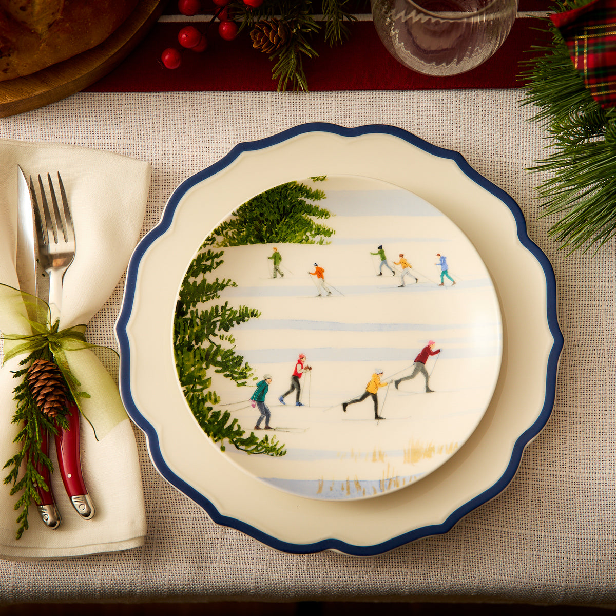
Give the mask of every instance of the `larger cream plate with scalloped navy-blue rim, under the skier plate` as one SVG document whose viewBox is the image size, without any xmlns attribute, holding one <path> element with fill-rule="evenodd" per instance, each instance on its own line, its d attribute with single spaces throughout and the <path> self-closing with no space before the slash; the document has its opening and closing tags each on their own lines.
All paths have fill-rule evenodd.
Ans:
<svg viewBox="0 0 616 616">
<path fill-rule="evenodd" d="M 177 292 L 204 236 L 254 195 L 323 175 L 382 180 L 434 205 L 477 249 L 500 302 L 501 370 L 479 425 L 427 477 L 379 498 L 313 500 L 257 480 L 203 446 L 177 384 L 171 331 Z M 460 154 L 401 129 L 332 124 L 305 124 L 240 144 L 181 184 L 132 256 L 116 334 L 120 391 L 163 477 L 214 521 L 274 548 L 363 556 L 447 532 L 506 487 L 525 445 L 549 418 L 562 349 L 553 271 L 527 237 L 511 197 Z"/>
</svg>

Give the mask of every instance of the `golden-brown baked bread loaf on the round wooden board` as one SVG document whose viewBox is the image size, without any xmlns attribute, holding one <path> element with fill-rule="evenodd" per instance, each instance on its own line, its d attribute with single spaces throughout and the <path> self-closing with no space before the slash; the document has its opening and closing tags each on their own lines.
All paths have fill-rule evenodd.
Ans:
<svg viewBox="0 0 616 616">
<path fill-rule="evenodd" d="M 0 0 L 0 81 L 102 43 L 138 0 Z"/>
</svg>

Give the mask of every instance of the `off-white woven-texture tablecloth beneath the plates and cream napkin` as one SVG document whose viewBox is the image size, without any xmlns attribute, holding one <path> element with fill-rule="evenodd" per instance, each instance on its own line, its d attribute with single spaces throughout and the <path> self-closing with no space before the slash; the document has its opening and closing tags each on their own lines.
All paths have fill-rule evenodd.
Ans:
<svg viewBox="0 0 616 616">
<path fill-rule="evenodd" d="M 541 131 L 519 91 L 77 94 L 0 120 L 0 137 L 85 145 L 152 163 L 142 233 L 182 180 L 229 152 L 307 121 L 393 124 L 461 152 L 511 194 L 554 265 L 566 343 L 556 406 L 498 498 L 445 535 L 383 556 L 292 556 L 213 524 L 153 468 L 137 431 L 148 535 L 143 548 L 36 564 L 0 561 L 0 601 L 404 599 L 616 602 L 615 243 L 564 254 L 547 238 L 524 168 Z M 508 258 L 503 254 L 503 259 Z M 89 326 L 115 346 L 123 281 Z M 524 293 L 524 289 L 520 290 Z M 529 349 L 532 352 L 532 349 Z"/>
</svg>

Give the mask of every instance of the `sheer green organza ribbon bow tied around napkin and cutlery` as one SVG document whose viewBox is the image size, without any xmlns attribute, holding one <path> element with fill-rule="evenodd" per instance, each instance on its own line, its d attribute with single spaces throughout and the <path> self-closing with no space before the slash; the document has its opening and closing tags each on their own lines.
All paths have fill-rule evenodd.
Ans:
<svg viewBox="0 0 616 616">
<path fill-rule="evenodd" d="M 94 429 L 79 401 L 83 398 L 89 398 L 90 395 L 84 391 L 79 391 L 81 383 L 70 368 L 67 353 L 83 349 L 104 349 L 115 355 L 117 353 L 109 347 L 87 342 L 86 325 L 75 325 L 60 330 L 59 320 L 54 323 L 51 321 L 51 309 L 46 301 L 2 283 L 0 283 L 0 309 L 2 309 L 2 323 L 5 325 L 5 329 L 8 328 L 7 325 L 12 325 L 14 331 L 28 331 L 28 333 L 14 334 L 4 333 L 3 331 L 0 334 L 0 338 L 4 340 L 2 363 L 4 364 L 4 362 L 20 355 L 30 355 L 36 351 L 42 351 L 41 356 L 44 356 L 47 354 L 45 352 L 47 349 L 62 372 L 79 412 Z"/>
</svg>

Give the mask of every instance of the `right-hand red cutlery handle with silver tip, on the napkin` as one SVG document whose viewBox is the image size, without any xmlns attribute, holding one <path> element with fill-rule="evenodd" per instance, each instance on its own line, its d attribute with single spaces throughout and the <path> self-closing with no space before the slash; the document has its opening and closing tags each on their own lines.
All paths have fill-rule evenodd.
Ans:
<svg viewBox="0 0 616 616">
<path fill-rule="evenodd" d="M 68 404 L 66 417 L 68 428 L 60 428 L 55 436 L 58 468 L 73 507 L 84 520 L 90 520 L 94 517 L 95 510 L 81 472 L 79 408 L 72 400 Z"/>
</svg>

